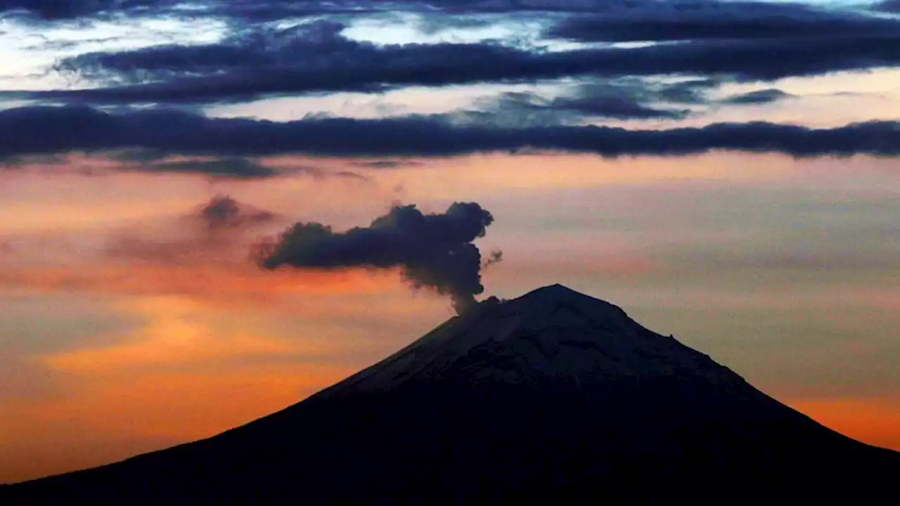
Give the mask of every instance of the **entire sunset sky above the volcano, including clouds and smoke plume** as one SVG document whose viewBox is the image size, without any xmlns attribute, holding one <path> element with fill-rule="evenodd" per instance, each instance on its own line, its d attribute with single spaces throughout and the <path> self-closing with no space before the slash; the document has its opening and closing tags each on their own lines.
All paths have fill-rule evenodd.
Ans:
<svg viewBox="0 0 900 506">
<path fill-rule="evenodd" d="M 0 483 L 555 283 L 900 449 L 895 0 L 0 0 L 0 47 Z"/>
</svg>

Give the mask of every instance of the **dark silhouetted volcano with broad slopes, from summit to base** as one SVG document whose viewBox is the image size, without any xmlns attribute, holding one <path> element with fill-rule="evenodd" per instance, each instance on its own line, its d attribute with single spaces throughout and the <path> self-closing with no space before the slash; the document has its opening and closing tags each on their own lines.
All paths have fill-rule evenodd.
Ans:
<svg viewBox="0 0 900 506">
<path fill-rule="evenodd" d="M 900 454 L 553 285 L 479 303 L 284 411 L 0 503 L 869 503 L 898 475 Z"/>
</svg>

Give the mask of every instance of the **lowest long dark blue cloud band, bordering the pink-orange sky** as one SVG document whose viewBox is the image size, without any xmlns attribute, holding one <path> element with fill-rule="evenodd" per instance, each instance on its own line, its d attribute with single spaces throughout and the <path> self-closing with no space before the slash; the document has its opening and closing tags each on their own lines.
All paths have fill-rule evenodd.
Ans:
<svg viewBox="0 0 900 506">
<path fill-rule="evenodd" d="M 769 122 L 714 123 L 657 131 L 606 126 L 506 128 L 456 125 L 451 120 L 409 116 L 267 122 L 177 111 L 113 114 L 85 107 L 25 107 L 0 111 L 0 157 L 126 148 L 216 156 L 408 157 L 518 149 L 606 157 L 678 156 L 711 150 L 797 157 L 900 155 L 900 122 L 853 123 L 831 129 Z"/>
</svg>

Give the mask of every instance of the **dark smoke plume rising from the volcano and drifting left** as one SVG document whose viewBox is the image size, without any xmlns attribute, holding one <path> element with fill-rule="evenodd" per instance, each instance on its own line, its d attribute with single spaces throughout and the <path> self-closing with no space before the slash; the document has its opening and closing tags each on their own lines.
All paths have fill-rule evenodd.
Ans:
<svg viewBox="0 0 900 506">
<path fill-rule="evenodd" d="M 401 267 L 411 285 L 450 295 L 461 313 L 484 292 L 482 254 L 472 242 L 493 221 L 477 203 L 453 203 L 442 214 L 423 214 L 415 205 L 394 206 L 368 227 L 343 232 L 299 222 L 261 245 L 257 260 L 266 269 Z"/>
</svg>

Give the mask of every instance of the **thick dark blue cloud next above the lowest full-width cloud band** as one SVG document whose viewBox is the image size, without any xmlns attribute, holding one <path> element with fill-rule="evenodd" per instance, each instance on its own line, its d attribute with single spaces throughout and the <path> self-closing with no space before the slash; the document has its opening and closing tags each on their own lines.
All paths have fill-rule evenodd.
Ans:
<svg viewBox="0 0 900 506">
<path fill-rule="evenodd" d="M 376 45 L 347 39 L 344 24 L 333 20 L 282 30 L 239 25 L 220 43 L 92 52 L 55 66 L 64 75 L 84 77 L 102 87 L 5 95 L 89 104 L 212 104 L 273 95 L 587 76 L 700 75 L 771 81 L 900 64 L 900 21 L 857 17 L 862 21 L 847 23 L 860 28 L 842 36 L 834 36 L 816 22 L 810 24 L 818 35 L 811 28 L 806 35 L 687 38 L 641 47 L 556 51 L 510 47 L 498 41 Z M 572 32 L 575 37 L 581 33 L 578 27 L 588 23 L 580 19 L 567 22 L 575 23 L 572 26 L 563 23 L 554 34 Z M 633 30 L 646 26 L 640 19 L 629 20 L 623 23 L 637 27 Z M 605 29 L 596 32 L 608 33 Z"/>
</svg>

